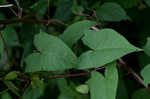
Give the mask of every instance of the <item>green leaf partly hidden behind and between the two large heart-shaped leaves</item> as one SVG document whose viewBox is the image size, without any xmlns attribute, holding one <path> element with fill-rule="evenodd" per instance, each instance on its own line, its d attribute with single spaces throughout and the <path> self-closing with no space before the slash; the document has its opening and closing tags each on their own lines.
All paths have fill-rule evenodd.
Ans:
<svg viewBox="0 0 150 99">
<path fill-rule="evenodd" d="M 68 44 L 70 47 L 73 46 L 84 34 L 85 30 L 88 30 L 90 27 L 95 26 L 96 22 L 93 21 L 79 21 L 70 25 L 60 38 Z"/>
</svg>

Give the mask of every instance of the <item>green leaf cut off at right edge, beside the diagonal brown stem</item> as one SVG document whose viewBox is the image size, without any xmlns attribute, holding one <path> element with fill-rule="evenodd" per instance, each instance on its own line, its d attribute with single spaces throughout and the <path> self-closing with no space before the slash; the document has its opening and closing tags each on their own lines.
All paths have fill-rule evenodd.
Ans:
<svg viewBox="0 0 150 99">
<path fill-rule="evenodd" d="M 144 79 L 144 84 L 147 86 L 148 84 L 150 84 L 150 64 L 148 64 L 147 66 L 145 66 L 142 71 L 141 71 L 141 76 Z"/>
</svg>

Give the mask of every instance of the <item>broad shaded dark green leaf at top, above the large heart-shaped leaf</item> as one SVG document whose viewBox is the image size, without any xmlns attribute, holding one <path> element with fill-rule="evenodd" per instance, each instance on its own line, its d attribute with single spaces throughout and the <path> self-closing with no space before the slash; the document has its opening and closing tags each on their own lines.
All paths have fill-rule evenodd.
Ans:
<svg viewBox="0 0 150 99">
<path fill-rule="evenodd" d="M 104 3 L 96 10 L 101 21 L 122 21 L 128 20 L 125 10 L 116 3 Z"/>
</svg>

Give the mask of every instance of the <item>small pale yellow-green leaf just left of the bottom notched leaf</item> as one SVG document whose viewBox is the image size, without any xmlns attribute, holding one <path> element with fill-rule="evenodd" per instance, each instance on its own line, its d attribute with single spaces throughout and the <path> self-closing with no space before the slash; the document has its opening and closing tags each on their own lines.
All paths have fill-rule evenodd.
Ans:
<svg viewBox="0 0 150 99">
<path fill-rule="evenodd" d="M 81 94 L 88 94 L 89 87 L 88 87 L 88 85 L 82 84 L 82 85 L 79 85 L 76 87 L 76 91 L 81 93 Z"/>
</svg>

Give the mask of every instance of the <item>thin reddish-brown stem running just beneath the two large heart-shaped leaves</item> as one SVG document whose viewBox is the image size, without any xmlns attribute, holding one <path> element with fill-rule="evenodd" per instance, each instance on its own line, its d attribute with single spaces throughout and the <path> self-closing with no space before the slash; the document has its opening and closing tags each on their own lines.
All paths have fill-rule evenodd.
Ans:
<svg viewBox="0 0 150 99">
<path fill-rule="evenodd" d="M 60 74 L 60 75 L 54 75 L 54 76 L 42 76 L 41 78 L 55 79 L 55 78 L 79 77 L 79 76 L 89 75 L 93 71 L 98 71 L 98 70 L 101 70 L 101 69 L 104 69 L 104 68 L 105 68 L 105 66 L 101 66 L 99 68 L 95 68 L 95 69 L 90 70 L 88 72 L 82 72 L 82 73 L 76 73 L 76 74 Z"/>
</svg>

